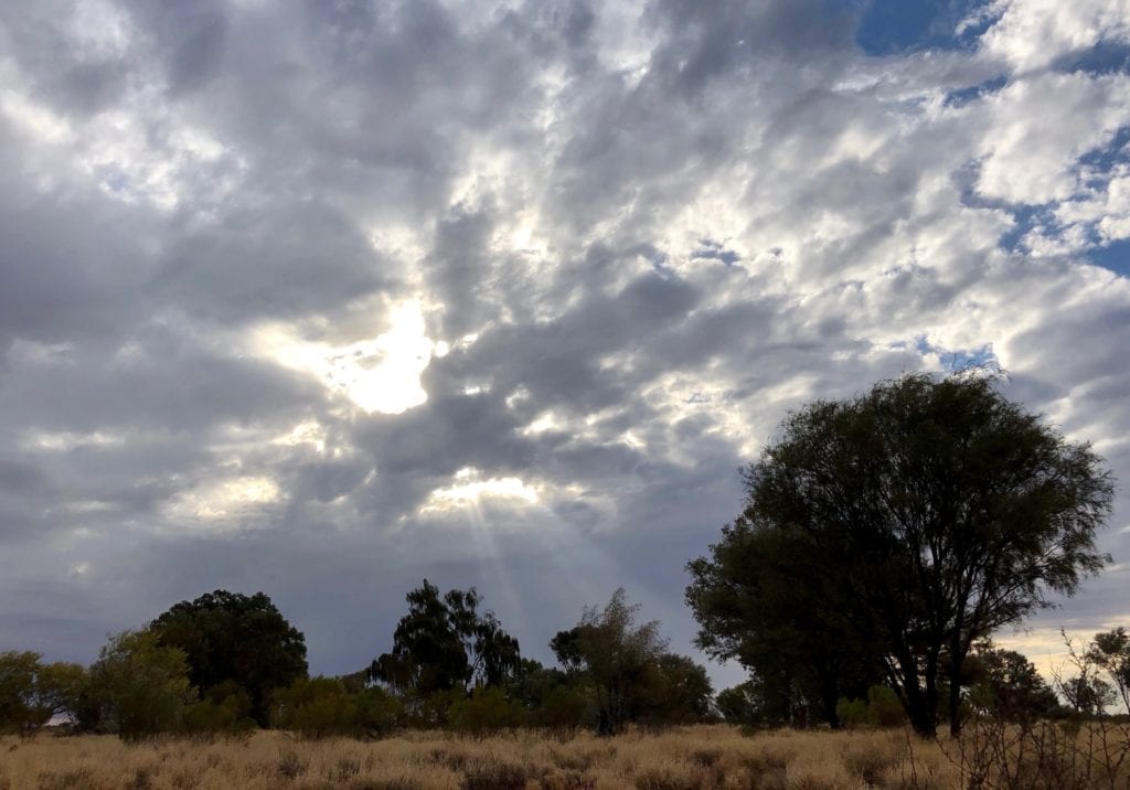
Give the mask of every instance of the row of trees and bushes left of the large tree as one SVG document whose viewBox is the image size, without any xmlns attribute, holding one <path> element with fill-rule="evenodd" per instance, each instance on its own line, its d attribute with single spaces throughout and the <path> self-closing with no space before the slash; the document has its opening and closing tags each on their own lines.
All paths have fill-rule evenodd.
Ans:
<svg viewBox="0 0 1130 790">
<path fill-rule="evenodd" d="M 658 623 L 637 623 L 624 590 L 553 637 L 555 667 L 523 658 L 473 588 L 441 596 L 425 580 L 407 600 L 392 650 L 342 677 L 307 675 L 303 634 L 267 596 L 223 590 L 112 636 L 89 667 L 0 653 L 0 729 L 375 738 L 406 728 L 614 733 L 716 718 L 706 670 L 669 652 Z"/>
</svg>

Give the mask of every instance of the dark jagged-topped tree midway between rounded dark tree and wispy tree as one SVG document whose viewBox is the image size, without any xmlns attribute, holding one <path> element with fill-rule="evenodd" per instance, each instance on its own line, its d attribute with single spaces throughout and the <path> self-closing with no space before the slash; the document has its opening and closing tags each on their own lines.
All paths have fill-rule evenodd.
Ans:
<svg viewBox="0 0 1130 790">
<path fill-rule="evenodd" d="M 521 666 L 518 640 L 502 630 L 493 611 L 479 611 L 475 588 L 440 589 L 426 579 L 407 596 L 408 614 L 368 674 L 393 688 L 426 696 L 434 692 L 499 686 Z"/>
</svg>

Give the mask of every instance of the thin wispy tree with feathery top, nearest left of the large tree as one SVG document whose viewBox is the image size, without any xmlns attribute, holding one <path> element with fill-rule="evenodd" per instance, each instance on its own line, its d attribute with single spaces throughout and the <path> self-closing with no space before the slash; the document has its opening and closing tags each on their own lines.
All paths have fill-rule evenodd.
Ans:
<svg viewBox="0 0 1130 790">
<path fill-rule="evenodd" d="M 667 651 L 659 623 L 636 624 L 638 610 L 620 588 L 603 609 L 586 608 L 572 633 L 558 633 L 550 643 L 567 645 L 570 660 L 580 658 L 596 696 L 601 735 L 619 732 L 641 713 Z"/>
</svg>

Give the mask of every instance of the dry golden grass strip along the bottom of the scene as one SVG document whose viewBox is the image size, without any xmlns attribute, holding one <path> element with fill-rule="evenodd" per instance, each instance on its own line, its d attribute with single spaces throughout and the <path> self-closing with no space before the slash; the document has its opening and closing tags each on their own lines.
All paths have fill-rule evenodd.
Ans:
<svg viewBox="0 0 1130 790">
<path fill-rule="evenodd" d="M 0 790 L 940 790 L 965 783 L 953 754 L 901 730 L 746 737 L 732 727 L 699 726 L 610 739 L 520 731 L 479 740 L 408 732 L 376 743 L 294 741 L 263 731 L 242 740 L 137 746 L 108 736 L 0 739 Z"/>
</svg>

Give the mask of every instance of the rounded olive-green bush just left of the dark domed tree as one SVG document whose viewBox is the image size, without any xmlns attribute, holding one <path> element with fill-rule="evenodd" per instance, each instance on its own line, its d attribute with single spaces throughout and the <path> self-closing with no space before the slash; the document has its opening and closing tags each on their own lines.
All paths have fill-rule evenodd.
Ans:
<svg viewBox="0 0 1130 790">
<path fill-rule="evenodd" d="M 90 667 L 88 693 L 98 729 L 123 740 L 179 730 L 195 698 L 184 653 L 149 631 L 110 637 Z"/>
</svg>

